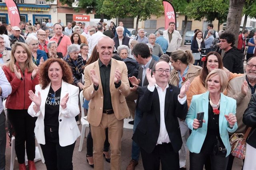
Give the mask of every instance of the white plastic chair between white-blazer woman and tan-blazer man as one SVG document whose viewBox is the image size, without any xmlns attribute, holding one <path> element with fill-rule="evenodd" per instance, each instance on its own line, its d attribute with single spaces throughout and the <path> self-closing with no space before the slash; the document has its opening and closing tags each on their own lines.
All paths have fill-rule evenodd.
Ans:
<svg viewBox="0 0 256 170">
<path fill-rule="evenodd" d="M 89 129 L 89 122 L 86 120 L 87 116 L 84 115 L 84 107 L 82 107 L 84 104 L 83 91 L 80 92 L 79 98 L 80 98 L 80 107 L 81 107 L 81 114 L 82 114 L 81 116 L 82 130 L 81 130 L 80 145 L 79 145 L 78 152 L 81 152 L 84 138 L 87 137 L 90 129 Z"/>
</svg>

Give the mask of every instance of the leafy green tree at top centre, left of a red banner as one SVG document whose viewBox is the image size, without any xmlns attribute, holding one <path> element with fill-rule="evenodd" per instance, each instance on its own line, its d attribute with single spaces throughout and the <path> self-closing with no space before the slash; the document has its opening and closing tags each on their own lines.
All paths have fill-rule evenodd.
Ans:
<svg viewBox="0 0 256 170">
<path fill-rule="evenodd" d="M 111 18 L 137 18 L 138 22 L 151 18 L 151 15 L 160 17 L 164 12 L 162 0 L 104 0 L 101 12 Z"/>
</svg>

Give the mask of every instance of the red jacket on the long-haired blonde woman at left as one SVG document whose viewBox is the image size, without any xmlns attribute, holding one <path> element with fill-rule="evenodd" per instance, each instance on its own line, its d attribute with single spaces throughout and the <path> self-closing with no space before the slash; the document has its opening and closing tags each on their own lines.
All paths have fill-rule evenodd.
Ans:
<svg viewBox="0 0 256 170">
<path fill-rule="evenodd" d="M 23 79 L 20 80 L 15 76 L 14 72 L 11 72 L 9 67 L 4 66 L 3 70 L 7 80 L 12 86 L 12 93 L 6 99 L 6 108 L 18 110 L 28 109 L 32 102 L 28 98 L 28 90 L 35 92 L 35 86 L 39 84 L 38 75 L 31 80 L 32 72 L 28 72 L 26 68 L 24 75 L 22 75 L 22 71 L 20 71 Z"/>
</svg>

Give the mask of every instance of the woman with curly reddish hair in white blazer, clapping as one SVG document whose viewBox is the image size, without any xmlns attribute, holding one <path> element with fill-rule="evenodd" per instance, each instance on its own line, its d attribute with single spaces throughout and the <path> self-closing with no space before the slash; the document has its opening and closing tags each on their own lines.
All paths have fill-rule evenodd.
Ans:
<svg viewBox="0 0 256 170">
<path fill-rule="evenodd" d="M 72 156 L 80 131 L 78 87 L 73 86 L 72 71 L 61 59 L 48 59 L 40 69 L 40 84 L 35 94 L 28 92 L 28 113 L 38 117 L 34 129 L 47 169 L 72 170 Z"/>
</svg>

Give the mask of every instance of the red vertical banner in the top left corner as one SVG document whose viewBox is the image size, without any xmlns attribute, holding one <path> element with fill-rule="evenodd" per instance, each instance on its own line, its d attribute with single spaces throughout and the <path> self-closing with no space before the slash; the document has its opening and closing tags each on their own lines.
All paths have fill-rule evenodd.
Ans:
<svg viewBox="0 0 256 170">
<path fill-rule="evenodd" d="M 8 14 L 12 26 L 19 26 L 20 23 L 20 12 L 13 0 L 6 0 L 6 6 L 8 8 Z M 8 24 L 8 23 L 7 23 Z"/>
</svg>

